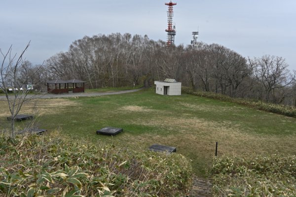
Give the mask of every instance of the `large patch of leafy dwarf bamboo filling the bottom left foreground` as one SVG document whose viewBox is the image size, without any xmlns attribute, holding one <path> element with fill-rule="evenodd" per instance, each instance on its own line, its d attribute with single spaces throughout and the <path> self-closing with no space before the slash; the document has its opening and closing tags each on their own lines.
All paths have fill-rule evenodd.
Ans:
<svg viewBox="0 0 296 197">
<path fill-rule="evenodd" d="M 97 147 L 56 132 L 0 136 L 0 196 L 182 196 L 190 171 L 180 154 Z"/>
</svg>

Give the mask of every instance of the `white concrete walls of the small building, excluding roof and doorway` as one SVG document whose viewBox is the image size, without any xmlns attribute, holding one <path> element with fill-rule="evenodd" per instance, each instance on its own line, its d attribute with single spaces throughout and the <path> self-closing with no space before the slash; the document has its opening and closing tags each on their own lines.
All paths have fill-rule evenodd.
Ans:
<svg viewBox="0 0 296 197">
<path fill-rule="evenodd" d="M 168 87 L 167 95 L 181 95 L 181 87 L 182 83 L 169 83 L 169 82 L 163 82 L 163 81 L 154 81 L 154 84 L 156 85 L 156 94 L 163 95 L 164 92 L 164 86 Z"/>
</svg>

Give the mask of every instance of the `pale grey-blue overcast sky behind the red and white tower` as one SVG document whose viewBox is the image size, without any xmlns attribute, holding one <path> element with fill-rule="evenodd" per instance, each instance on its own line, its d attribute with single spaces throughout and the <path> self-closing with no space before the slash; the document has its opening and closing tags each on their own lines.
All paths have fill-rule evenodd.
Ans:
<svg viewBox="0 0 296 197">
<path fill-rule="evenodd" d="M 0 48 L 41 64 L 84 35 L 147 34 L 166 40 L 169 0 L 1 0 Z M 296 0 L 180 0 L 175 44 L 218 43 L 244 57 L 282 56 L 296 69 Z"/>
</svg>

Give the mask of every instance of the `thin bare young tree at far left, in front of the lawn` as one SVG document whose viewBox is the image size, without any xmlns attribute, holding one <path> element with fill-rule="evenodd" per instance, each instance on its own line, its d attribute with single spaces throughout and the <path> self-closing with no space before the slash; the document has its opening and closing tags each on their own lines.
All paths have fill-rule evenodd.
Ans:
<svg viewBox="0 0 296 197">
<path fill-rule="evenodd" d="M 35 99 L 38 96 L 38 93 L 35 92 L 33 95 L 30 95 L 30 97 L 27 97 L 34 85 L 37 85 L 37 82 L 33 84 L 32 78 L 37 73 L 38 69 L 27 74 L 25 77 L 20 76 L 22 73 L 21 67 L 28 65 L 28 62 L 25 61 L 23 56 L 29 45 L 30 42 L 19 56 L 17 56 L 17 54 L 12 54 L 12 46 L 9 47 L 6 53 L 3 53 L 0 49 L 2 56 L 0 66 L 0 90 L 6 96 L 8 108 L 11 113 L 10 136 L 12 138 L 15 136 L 15 119 L 21 107 L 25 102 Z"/>
</svg>

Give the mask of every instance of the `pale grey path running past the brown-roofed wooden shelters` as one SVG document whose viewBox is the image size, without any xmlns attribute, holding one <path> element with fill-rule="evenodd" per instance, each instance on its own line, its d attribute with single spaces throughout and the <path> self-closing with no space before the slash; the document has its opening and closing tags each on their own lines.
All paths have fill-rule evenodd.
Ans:
<svg viewBox="0 0 296 197">
<path fill-rule="evenodd" d="M 104 92 L 104 93 L 68 93 L 68 94 L 47 94 L 47 93 L 42 93 L 40 95 L 28 95 L 27 98 L 38 98 L 38 99 L 52 99 L 52 98 L 74 98 L 74 97 L 97 97 L 97 96 L 104 96 L 104 95 L 118 95 L 118 94 L 124 94 L 124 93 L 132 93 L 132 92 L 137 92 L 139 90 L 142 90 L 143 88 L 140 89 L 135 89 L 135 90 L 124 90 L 124 91 L 118 91 L 118 92 Z M 12 97 L 11 97 L 12 98 Z M 0 96 L 0 100 L 6 100 L 5 96 Z"/>
</svg>

